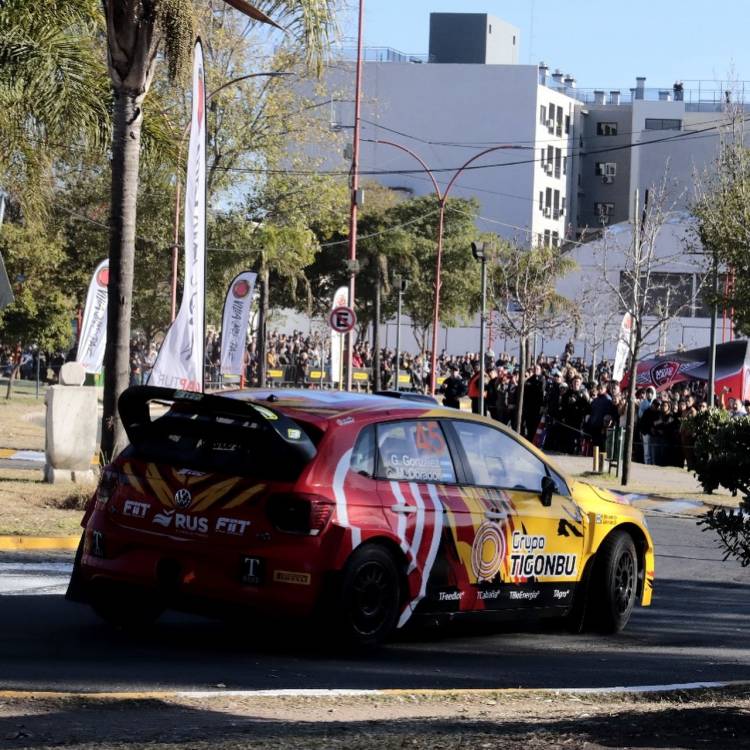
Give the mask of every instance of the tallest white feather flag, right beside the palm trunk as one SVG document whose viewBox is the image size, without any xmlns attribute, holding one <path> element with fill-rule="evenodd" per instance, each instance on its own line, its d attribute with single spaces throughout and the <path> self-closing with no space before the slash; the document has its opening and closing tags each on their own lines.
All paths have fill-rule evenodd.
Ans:
<svg viewBox="0 0 750 750">
<path fill-rule="evenodd" d="M 206 304 L 206 86 L 200 39 L 193 52 L 193 116 L 185 185 L 185 284 L 150 385 L 203 390 Z"/>
</svg>

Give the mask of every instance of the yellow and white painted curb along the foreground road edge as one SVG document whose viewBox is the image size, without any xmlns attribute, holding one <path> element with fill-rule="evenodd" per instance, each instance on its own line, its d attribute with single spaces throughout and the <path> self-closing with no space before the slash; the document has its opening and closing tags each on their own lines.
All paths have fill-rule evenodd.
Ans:
<svg viewBox="0 0 750 750">
<path fill-rule="evenodd" d="M 492 695 L 638 695 L 651 693 L 684 693 L 698 690 L 720 690 L 726 688 L 750 688 L 748 680 L 726 682 L 686 682 L 667 685 L 634 685 L 630 687 L 603 688 L 458 688 L 425 689 L 408 688 L 383 690 L 357 689 L 281 689 L 281 690 L 145 690 L 81 692 L 76 690 L 0 690 L 0 699 L 64 699 L 88 698 L 93 700 L 168 700 L 174 698 L 419 698 L 484 697 Z"/>
</svg>

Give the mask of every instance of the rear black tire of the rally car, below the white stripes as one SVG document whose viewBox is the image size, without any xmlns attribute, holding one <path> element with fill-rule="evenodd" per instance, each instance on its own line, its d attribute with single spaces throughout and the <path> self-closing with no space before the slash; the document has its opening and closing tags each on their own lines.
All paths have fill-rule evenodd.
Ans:
<svg viewBox="0 0 750 750">
<path fill-rule="evenodd" d="M 375 544 L 355 550 L 344 568 L 336 630 L 355 648 L 380 646 L 395 630 L 401 603 L 398 567 Z"/>
</svg>

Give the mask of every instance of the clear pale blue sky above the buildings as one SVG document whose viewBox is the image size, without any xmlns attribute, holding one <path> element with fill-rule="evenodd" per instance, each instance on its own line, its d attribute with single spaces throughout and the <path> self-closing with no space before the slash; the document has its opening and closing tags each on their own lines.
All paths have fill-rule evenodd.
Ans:
<svg viewBox="0 0 750 750">
<path fill-rule="evenodd" d="M 347 3 L 341 28 L 350 46 L 357 0 Z M 365 44 L 427 52 L 430 12 L 503 18 L 521 29 L 519 62 L 544 60 L 572 73 L 582 88 L 626 89 L 637 75 L 646 76 L 649 87 L 680 79 L 750 79 L 747 0 L 365 0 Z"/>
</svg>

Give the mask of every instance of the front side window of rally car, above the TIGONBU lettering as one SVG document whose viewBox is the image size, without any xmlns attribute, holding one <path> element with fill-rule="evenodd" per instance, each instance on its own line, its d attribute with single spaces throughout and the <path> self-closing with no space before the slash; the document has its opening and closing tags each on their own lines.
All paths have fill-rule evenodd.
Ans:
<svg viewBox="0 0 750 750">
<path fill-rule="evenodd" d="M 547 468 L 533 453 L 500 430 L 452 421 L 469 461 L 474 484 L 539 492 Z"/>
</svg>

